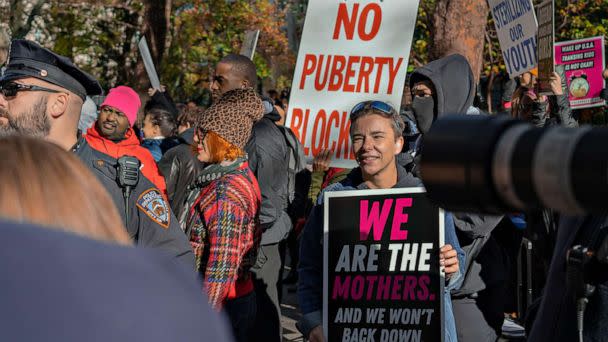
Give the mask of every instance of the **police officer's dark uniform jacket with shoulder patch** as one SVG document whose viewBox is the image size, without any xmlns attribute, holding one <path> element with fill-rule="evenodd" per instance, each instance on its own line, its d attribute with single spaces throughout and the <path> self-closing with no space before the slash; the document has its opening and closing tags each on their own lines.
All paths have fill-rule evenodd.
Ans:
<svg viewBox="0 0 608 342">
<path fill-rule="evenodd" d="M 117 160 L 94 150 L 83 137 L 73 151 L 104 185 L 124 221 L 125 200 L 123 188 L 117 182 Z M 137 245 L 164 250 L 194 269 L 194 254 L 169 204 L 158 188 L 141 173 L 129 198 L 126 228 Z"/>
</svg>

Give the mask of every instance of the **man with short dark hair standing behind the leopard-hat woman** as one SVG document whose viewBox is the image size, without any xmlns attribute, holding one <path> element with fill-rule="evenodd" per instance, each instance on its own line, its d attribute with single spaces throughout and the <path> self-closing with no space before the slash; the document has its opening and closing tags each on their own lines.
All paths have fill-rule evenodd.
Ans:
<svg viewBox="0 0 608 342">
<path fill-rule="evenodd" d="M 227 55 L 216 65 L 211 90 L 213 97 L 238 88 L 257 87 L 255 64 L 242 55 Z M 281 309 L 277 285 L 281 269 L 279 242 L 291 230 L 287 214 L 289 205 L 289 150 L 276 122 L 281 116 L 272 100 L 264 100 L 266 113 L 254 126 L 245 146 L 249 167 L 255 174 L 262 193 L 260 224 L 263 235 L 258 260 L 251 271 L 257 298 L 257 315 L 253 341 L 281 341 Z M 227 123 L 231 124 L 231 123 Z"/>
</svg>

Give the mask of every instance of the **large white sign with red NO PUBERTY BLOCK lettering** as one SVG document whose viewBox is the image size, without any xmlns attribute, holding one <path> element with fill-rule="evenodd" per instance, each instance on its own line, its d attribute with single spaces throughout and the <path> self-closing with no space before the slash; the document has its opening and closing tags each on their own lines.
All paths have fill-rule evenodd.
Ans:
<svg viewBox="0 0 608 342">
<path fill-rule="evenodd" d="M 312 159 L 330 149 L 332 166 L 353 167 L 349 113 L 380 100 L 399 110 L 418 0 L 310 0 L 286 126 Z"/>
</svg>

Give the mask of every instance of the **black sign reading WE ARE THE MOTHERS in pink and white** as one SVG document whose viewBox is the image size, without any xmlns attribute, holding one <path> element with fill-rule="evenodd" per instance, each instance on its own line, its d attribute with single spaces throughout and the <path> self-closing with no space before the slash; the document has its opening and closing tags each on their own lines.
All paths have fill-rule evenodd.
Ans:
<svg viewBox="0 0 608 342">
<path fill-rule="evenodd" d="M 443 211 L 423 188 L 325 193 L 323 329 L 333 341 L 443 341 Z"/>
</svg>

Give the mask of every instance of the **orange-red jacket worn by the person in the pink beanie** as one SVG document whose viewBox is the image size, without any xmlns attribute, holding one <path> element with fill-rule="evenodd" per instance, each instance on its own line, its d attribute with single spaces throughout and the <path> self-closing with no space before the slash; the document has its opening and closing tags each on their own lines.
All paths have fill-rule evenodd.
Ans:
<svg viewBox="0 0 608 342">
<path fill-rule="evenodd" d="M 112 158 L 118 159 L 122 156 L 133 156 L 139 159 L 142 165 L 141 173 L 167 197 L 165 177 L 158 171 L 158 167 L 150 151 L 139 145 L 139 140 L 132 128 L 129 127 L 125 133 L 124 140 L 115 143 L 112 140 L 104 138 L 97 130 L 97 123 L 95 123 L 87 130 L 85 139 L 93 149 Z"/>
</svg>

